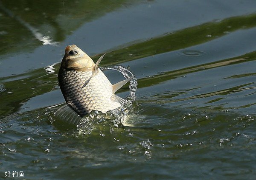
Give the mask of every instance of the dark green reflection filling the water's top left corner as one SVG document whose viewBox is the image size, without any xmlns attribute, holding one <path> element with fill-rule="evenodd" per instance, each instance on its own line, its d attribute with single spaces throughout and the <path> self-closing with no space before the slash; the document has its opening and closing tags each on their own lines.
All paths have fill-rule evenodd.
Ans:
<svg viewBox="0 0 256 180">
<path fill-rule="evenodd" d="M 40 46 L 42 42 L 35 38 L 35 32 L 29 27 L 53 41 L 61 42 L 84 23 L 114 11 L 126 2 L 127 0 L 0 2 L 0 55 L 31 51 Z M 135 2 L 129 1 L 130 4 Z"/>
</svg>

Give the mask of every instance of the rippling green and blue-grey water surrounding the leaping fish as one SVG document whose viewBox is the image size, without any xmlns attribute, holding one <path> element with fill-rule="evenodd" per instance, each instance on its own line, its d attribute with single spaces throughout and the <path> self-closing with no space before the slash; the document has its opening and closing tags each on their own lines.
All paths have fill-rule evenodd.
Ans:
<svg viewBox="0 0 256 180">
<path fill-rule="evenodd" d="M 1 1 L 0 178 L 255 179 L 255 7 Z M 106 53 L 102 67 L 130 66 L 138 89 L 129 126 L 99 112 L 80 129 L 58 121 L 58 68 L 71 44 L 95 61 Z M 128 85 L 117 94 L 128 96 Z"/>
</svg>

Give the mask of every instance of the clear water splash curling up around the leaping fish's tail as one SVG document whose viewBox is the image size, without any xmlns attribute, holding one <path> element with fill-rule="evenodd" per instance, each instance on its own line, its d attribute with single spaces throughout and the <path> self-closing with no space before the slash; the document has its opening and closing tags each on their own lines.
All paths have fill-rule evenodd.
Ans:
<svg viewBox="0 0 256 180">
<path fill-rule="evenodd" d="M 68 104 L 64 103 L 51 107 L 56 109 L 52 123 L 58 121 L 57 124 L 66 124 L 67 127 L 76 127 L 79 130 L 79 135 L 90 134 L 96 127 L 105 123 L 109 125 L 111 124 L 113 127 L 123 127 L 128 125 L 127 120 L 130 119 L 129 113 L 131 112 L 133 102 L 136 98 L 137 78 L 134 73 L 128 70 L 128 68 L 120 65 L 104 66 L 100 69 L 116 70 L 122 73 L 126 79 L 131 78 L 129 85 L 130 94 L 125 98 L 125 104 L 122 107 L 108 111 L 107 113 L 92 111 L 81 118 L 81 116 L 79 116 Z"/>
</svg>

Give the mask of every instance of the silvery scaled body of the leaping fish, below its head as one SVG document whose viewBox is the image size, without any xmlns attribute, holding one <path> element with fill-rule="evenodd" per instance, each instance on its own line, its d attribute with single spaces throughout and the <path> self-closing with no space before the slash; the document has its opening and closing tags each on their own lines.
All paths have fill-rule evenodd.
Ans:
<svg viewBox="0 0 256 180">
<path fill-rule="evenodd" d="M 92 72 L 60 69 L 59 85 L 64 98 L 79 115 L 84 116 L 92 110 L 106 113 L 121 106 L 112 101 L 112 84 L 101 70 L 90 79 Z M 90 79 L 85 87 L 83 85 Z"/>
</svg>

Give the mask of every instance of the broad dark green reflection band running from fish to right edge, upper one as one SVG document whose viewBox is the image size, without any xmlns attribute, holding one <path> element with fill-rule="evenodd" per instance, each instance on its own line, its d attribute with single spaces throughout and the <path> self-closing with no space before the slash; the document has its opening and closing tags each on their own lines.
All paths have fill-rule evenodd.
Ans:
<svg viewBox="0 0 256 180">
<path fill-rule="evenodd" d="M 180 31 L 170 32 L 164 36 L 146 39 L 143 42 L 113 50 L 108 55 L 111 55 L 112 62 L 126 62 L 199 45 L 225 36 L 225 32 L 253 27 L 256 27 L 256 14 L 230 17 L 220 22 L 204 23 Z"/>
</svg>

